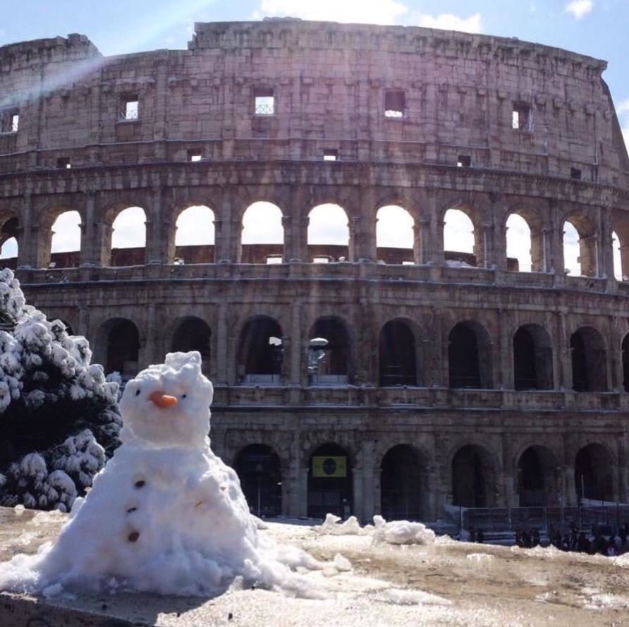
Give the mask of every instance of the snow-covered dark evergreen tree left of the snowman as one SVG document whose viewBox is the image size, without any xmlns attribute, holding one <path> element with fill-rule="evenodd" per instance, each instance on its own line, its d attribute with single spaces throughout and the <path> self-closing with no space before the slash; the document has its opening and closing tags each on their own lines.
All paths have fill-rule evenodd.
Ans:
<svg viewBox="0 0 629 627">
<path fill-rule="evenodd" d="M 118 446 L 118 384 L 0 270 L 0 505 L 67 511 Z"/>
</svg>

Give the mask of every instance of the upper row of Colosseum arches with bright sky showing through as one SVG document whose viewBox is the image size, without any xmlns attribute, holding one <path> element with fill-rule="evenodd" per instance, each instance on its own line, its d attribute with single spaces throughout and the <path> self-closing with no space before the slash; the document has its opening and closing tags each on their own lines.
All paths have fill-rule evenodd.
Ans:
<svg viewBox="0 0 629 627">
<path fill-rule="evenodd" d="M 473 209 L 461 205 L 446 209 L 443 215 L 443 250 L 446 263 L 459 266 L 482 265 L 484 231 L 475 224 Z M 248 262 L 275 263 L 282 260 L 285 241 L 283 212 L 270 202 L 254 202 L 245 209 L 240 224 L 240 244 L 264 244 L 266 248 Z M 377 257 L 387 263 L 413 264 L 420 262 L 417 251 L 417 224 L 410 212 L 400 205 L 385 205 L 376 212 L 375 238 Z M 142 207 L 120 209 L 109 229 L 109 262 L 112 265 L 142 264 L 141 255 L 116 255 L 114 250 L 145 248 L 147 214 Z M 195 252 L 190 260 L 214 262 L 216 239 L 215 213 L 206 205 L 194 205 L 181 211 L 175 220 L 174 247 L 176 249 L 203 246 L 207 250 Z M 353 234 L 345 209 L 335 204 L 317 205 L 307 216 L 307 245 L 312 248 L 310 261 L 329 262 L 349 260 Z M 505 224 L 507 268 L 520 272 L 545 272 L 544 231 L 534 212 L 522 210 L 508 214 Z M 4 221 L 0 231 L 0 259 L 19 257 L 20 224 L 17 217 Z M 599 238 L 590 220 L 568 217 L 561 228 L 563 238 L 562 272 L 573 276 L 597 276 Z M 49 252 L 56 254 L 59 267 L 78 265 L 79 255 L 59 256 L 59 253 L 78 253 L 81 250 L 82 218 L 75 210 L 61 212 L 51 224 L 50 232 L 42 238 Z M 624 233 L 623 233 L 624 234 Z M 621 238 L 611 233 L 613 274 L 618 280 L 629 274 L 629 260 L 623 262 Z M 336 247 L 319 250 L 317 246 Z M 386 250 L 392 249 L 392 250 Z M 181 252 L 181 251 L 180 251 Z M 329 254 L 329 253 L 333 254 Z M 183 254 L 183 253 L 182 253 Z M 336 255 L 336 256 L 335 256 Z M 624 265 L 623 265 L 624 264 Z M 624 267 L 624 270 L 623 270 Z"/>
</svg>

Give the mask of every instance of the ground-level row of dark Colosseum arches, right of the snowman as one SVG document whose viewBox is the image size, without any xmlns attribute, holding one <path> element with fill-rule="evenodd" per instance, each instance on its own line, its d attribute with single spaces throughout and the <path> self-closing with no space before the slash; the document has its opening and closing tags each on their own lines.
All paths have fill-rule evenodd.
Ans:
<svg viewBox="0 0 629 627">
<path fill-rule="evenodd" d="M 257 516 L 278 516 L 286 463 L 265 444 L 250 444 L 233 461 L 250 509 Z M 427 455 L 409 444 L 398 444 L 386 452 L 379 476 L 379 512 L 387 520 L 424 520 L 430 512 L 431 485 Z M 563 476 L 553 451 L 535 444 L 515 461 L 513 476 L 518 506 L 557 506 L 564 498 Z M 495 456 L 484 446 L 466 444 L 449 463 L 449 500 L 454 506 L 496 506 L 500 468 Z M 350 453 L 336 443 L 319 446 L 307 460 L 307 516 L 324 518 L 326 513 L 347 517 L 353 513 L 353 462 Z M 434 475 L 433 475 L 434 476 Z M 613 463 L 601 444 L 587 444 L 578 450 L 573 463 L 575 494 L 582 499 L 613 501 Z"/>
</svg>

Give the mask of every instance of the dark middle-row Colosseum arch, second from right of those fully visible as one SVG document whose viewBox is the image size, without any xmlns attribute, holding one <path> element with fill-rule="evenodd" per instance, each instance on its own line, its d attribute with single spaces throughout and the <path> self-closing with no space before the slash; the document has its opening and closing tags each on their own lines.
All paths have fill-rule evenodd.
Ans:
<svg viewBox="0 0 629 627">
<path fill-rule="evenodd" d="M 551 341 L 537 324 L 525 324 L 513 336 L 513 384 L 516 390 L 553 387 Z"/>
</svg>

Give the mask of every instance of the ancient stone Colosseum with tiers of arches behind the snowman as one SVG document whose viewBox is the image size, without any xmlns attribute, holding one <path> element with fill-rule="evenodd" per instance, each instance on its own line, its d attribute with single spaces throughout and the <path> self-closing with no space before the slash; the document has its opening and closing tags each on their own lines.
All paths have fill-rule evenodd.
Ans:
<svg viewBox="0 0 629 627">
<path fill-rule="evenodd" d="M 0 47 L 3 263 L 108 372 L 199 350 L 256 513 L 627 503 L 629 159 L 605 68 L 300 20 L 122 56 Z M 178 238 L 190 208 L 212 241 Z M 315 237 L 332 209 L 341 243 Z M 68 212 L 80 250 L 52 252 Z M 448 244 L 459 214 L 470 250 Z"/>
</svg>

